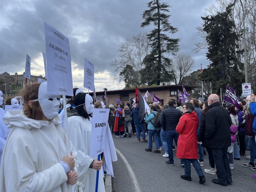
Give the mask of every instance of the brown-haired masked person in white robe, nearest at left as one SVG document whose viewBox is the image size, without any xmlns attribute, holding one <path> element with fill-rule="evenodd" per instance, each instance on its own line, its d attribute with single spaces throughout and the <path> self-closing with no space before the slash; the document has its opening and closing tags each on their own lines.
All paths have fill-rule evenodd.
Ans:
<svg viewBox="0 0 256 192">
<path fill-rule="evenodd" d="M 27 84 L 23 110 L 10 110 L 3 121 L 12 128 L 4 147 L 0 191 L 73 191 L 77 153 L 58 115 L 59 95 L 47 93 L 47 82 Z M 72 173 L 70 170 L 73 170 Z"/>
</svg>

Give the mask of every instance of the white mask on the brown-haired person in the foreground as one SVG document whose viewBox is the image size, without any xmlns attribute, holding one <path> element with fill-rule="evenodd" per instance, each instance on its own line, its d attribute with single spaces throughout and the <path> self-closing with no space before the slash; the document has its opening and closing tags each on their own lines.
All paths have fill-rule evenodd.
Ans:
<svg viewBox="0 0 256 192">
<path fill-rule="evenodd" d="M 47 82 L 42 82 L 38 90 L 38 99 L 33 101 L 38 101 L 42 112 L 47 119 L 53 119 L 58 115 L 59 110 L 59 95 L 47 93 Z"/>
</svg>

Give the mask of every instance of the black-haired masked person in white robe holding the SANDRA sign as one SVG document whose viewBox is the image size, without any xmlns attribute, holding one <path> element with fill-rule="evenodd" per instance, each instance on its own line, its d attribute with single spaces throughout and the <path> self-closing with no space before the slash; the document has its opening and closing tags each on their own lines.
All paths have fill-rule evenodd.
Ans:
<svg viewBox="0 0 256 192">
<path fill-rule="evenodd" d="M 74 186 L 75 192 L 95 191 L 97 170 L 102 172 L 102 161 L 97 156 L 90 158 L 92 116 L 94 105 L 92 97 L 87 93 L 78 93 L 74 98 L 76 109 L 68 109 L 68 126 L 70 141 L 74 145 L 79 159 L 78 182 Z M 66 130 L 65 130 L 66 131 Z M 98 191 L 104 192 L 103 175 L 99 174 Z"/>
</svg>

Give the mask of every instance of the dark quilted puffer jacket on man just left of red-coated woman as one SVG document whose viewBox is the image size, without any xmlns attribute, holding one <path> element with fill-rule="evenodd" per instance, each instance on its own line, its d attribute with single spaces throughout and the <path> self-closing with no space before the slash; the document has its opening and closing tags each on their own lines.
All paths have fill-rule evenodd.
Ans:
<svg viewBox="0 0 256 192">
<path fill-rule="evenodd" d="M 182 112 L 176 109 L 175 106 L 169 106 L 167 109 L 163 110 L 161 115 L 163 131 L 175 130 L 181 116 Z"/>
</svg>

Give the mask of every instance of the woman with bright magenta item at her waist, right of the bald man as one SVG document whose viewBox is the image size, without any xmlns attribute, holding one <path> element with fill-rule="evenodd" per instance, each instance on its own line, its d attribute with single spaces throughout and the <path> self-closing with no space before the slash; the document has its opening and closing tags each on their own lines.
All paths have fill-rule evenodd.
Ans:
<svg viewBox="0 0 256 192">
<path fill-rule="evenodd" d="M 229 112 L 231 121 L 232 121 L 232 125 L 230 127 L 230 136 L 231 136 L 231 145 L 228 147 L 228 161 L 229 161 L 229 168 L 230 169 L 234 169 L 234 143 L 236 140 L 236 135 L 237 135 L 237 130 L 238 130 L 238 115 L 237 112 L 235 110 L 234 105 L 229 105 L 226 107 L 226 109 Z"/>
</svg>

